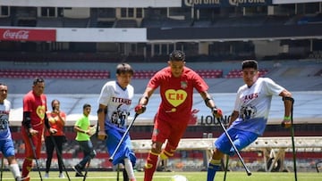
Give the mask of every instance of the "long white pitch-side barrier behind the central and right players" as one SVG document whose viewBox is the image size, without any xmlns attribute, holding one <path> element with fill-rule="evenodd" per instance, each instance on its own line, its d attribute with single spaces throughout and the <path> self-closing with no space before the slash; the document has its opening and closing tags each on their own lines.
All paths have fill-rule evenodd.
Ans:
<svg viewBox="0 0 322 181">
<path fill-rule="evenodd" d="M 206 151 L 208 160 L 210 159 L 216 138 L 183 138 L 177 150 L 199 150 Z M 296 152 L 322 152 L 322 136 L 294 136 Z M 151 140 L 140 139 L 131 140 L 135 152 L 149 152 Z M 165 146 L 165 144 L 164 144 Z M 271 171 L 275 163 L 280 160 L 280 170 L 284 169 L 285 152 L 292 152 L 291 137 L 258 137 L 258 139 L 244 148 L 242 152 L 263 152 L 265 170 Z M 272 160 L 267 168 L 267 161 Z"/>
</svg>

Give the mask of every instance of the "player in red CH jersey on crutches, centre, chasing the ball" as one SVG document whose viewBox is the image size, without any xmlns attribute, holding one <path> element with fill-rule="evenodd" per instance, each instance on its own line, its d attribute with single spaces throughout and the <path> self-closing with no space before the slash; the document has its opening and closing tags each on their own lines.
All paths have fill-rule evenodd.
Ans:
<svg viewBox="0 0 322 181">
<path fill-rule="evenodd" d="M 216 117 L 222 116 L 222 111 L 216 108 L 215 102 L 208 94 L 207 83 L 195 71 L 185 66 L 185 54 L 182 51 L 174 50 L 173 53 L 170 53 L 168 65 L 149 80 L 139 104 L 135 107 L 136 113 L 143 113 L 146 110 L 148 98 L 157 87 L 160 87 L 162 101 L 157 111 L 152 133 L 152 148 L 148 153 L 145 165 L 144 181 L 152 180 L 157 168 L 158 157 L 160 160 L 166 160 L 174 156 L 191 118 L 194 89 L 199 92 Z M 167 140 L 167 144 L 162 150 L 165 140 Z"/>
</svg>

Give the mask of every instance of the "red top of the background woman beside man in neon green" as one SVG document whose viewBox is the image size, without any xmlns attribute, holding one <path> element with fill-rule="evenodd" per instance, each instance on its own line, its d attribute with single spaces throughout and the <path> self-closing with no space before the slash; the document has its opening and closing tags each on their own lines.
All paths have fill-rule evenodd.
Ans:
<svg viewBox="0 0 322 181">
<path fill-rule="evenodd" d="M 62 119 L 66 119 L 64 111 L 60 111 L 59 114 Z M 64 122 L 58 117 L 58 114 L 47 112 L 47 118 L 50 128 L 55 128 L 57 130 L 54 136 L 64 136 Z M 45 130 L 45 136 L 50 136 L 47 130 Z"/>
</svg>

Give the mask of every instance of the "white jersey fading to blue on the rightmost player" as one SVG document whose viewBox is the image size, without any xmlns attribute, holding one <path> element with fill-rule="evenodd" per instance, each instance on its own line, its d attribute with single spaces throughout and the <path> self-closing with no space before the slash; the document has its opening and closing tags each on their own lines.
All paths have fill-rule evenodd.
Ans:
<svg viewBox="0 0 322 181">
<path fill-rule="evenodd" d="M 267 117 L 273 95 L 284 90 L 271 78 L 258 78 L 252 86 L 241 86 L 238 89 L 234 111 L 239 111 L 239 118 L 232 128 L 250 131 L 262 135 L 267 124 Z"/>
</svg>

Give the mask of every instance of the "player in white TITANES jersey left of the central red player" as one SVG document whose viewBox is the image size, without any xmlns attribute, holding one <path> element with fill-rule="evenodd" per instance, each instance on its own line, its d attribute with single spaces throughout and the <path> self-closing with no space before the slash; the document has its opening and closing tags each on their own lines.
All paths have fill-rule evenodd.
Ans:
<svg viewBox="0 0 322 181">
<path fill-rule="evenodd" d="M 101 90 L 98 98 L 98 139 L 106 139 L 106 147 L 109 154 L 113 154 L 120 142 L 125 130 L 128 116 L 130 115 L 131 101 L 134 96 L 134 88 L 130 85 L 133 70 L 127 63 L 120 63 L 116 67 L 116 81 L 107 82 Z M 123 177 L 126 181 L 135 181 L 133 166 L 136 157 L 131 149 L 131 137 L 129 134 L 123 140 L 113 160 L 113 164 L 124 165 Z"/>
</svg>

